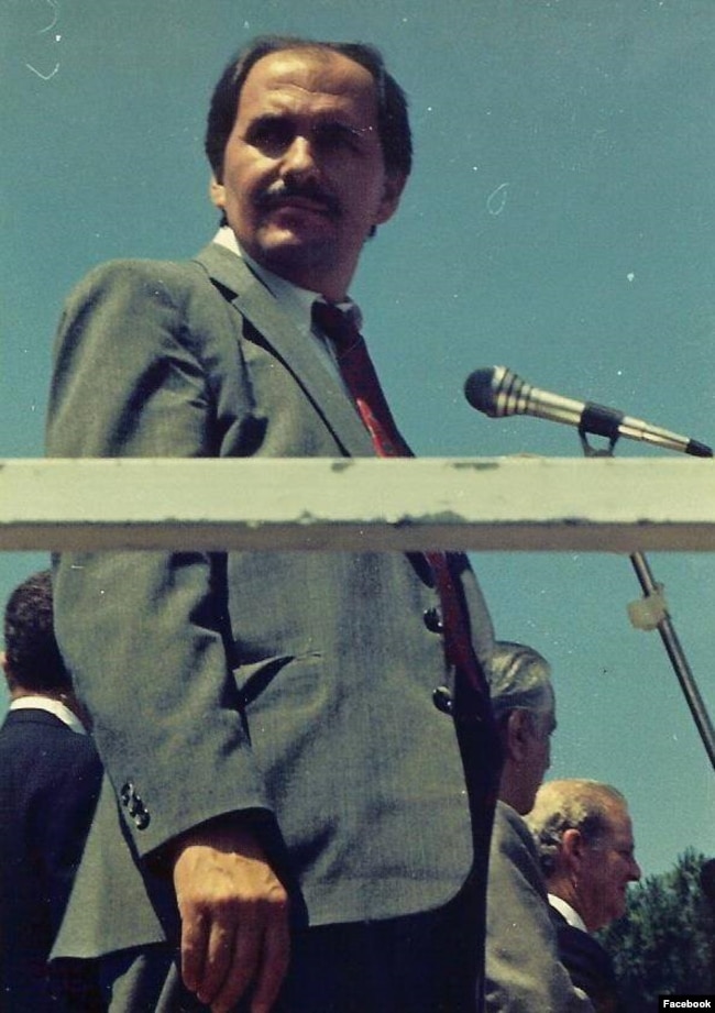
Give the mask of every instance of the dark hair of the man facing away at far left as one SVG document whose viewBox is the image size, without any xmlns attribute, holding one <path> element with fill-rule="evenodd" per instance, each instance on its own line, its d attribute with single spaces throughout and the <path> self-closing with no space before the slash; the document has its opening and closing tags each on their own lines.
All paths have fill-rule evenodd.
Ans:
<svg viewBox="0 0 715 1013">
<path fill-rule="evenodd" d="M 52 574 L 42 570 L 10 595 L 4 614 L 6 664 L 23 690 L 70 690 L 72 680 L 55 640 Z"/>
</svg>

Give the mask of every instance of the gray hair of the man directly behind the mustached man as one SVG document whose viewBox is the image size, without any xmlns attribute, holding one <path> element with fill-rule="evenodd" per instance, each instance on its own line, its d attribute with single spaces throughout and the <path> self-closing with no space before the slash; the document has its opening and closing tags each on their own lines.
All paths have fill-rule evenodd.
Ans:
<svg viewBox="0 0 715 1013">
<path fill-rule="evenodd" d="M 485 663 L 497 722 L 510 711 L 544 714 L 553 707 L 551 665 L 525 643 L 497 640 Z"/>
</svg>

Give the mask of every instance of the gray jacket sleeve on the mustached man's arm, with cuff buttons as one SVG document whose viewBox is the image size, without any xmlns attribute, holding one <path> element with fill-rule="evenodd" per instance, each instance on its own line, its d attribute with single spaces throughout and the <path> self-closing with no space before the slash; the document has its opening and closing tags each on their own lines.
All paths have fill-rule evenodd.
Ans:
<svg viewBox="0 0 715 1013">
<path fill-rule="evenodd" d="M 241 317 L 211 293 L 196 264 L 116 262 L 88 276 L 59 327 L 51 456 L 218 456 L 227 441 L 241 453 L 251 390 L 238 335 L 213 337 L 233 338 Z M 227 660 L 224 565 L 194 551 L 57 563 L 58 640 L 140 855 L 266 807 Z"/>
</svg>

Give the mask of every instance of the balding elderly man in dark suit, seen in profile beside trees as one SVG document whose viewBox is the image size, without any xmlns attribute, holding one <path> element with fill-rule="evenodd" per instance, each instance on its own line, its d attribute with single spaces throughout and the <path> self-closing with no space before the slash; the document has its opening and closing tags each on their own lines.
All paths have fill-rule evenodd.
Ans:
<svg viewBox="0 0 715 1013">
<path fill-rule="evenodd" d="M 615 1013 L 613 964 L 591 933 L 625 914 L 628 883 L 640 879 L 626 800 L 600 781 L 549 781 L 539 790 L 528 823 L 547 880 L 561 960 L 597 1013 Z"/>
</svg>

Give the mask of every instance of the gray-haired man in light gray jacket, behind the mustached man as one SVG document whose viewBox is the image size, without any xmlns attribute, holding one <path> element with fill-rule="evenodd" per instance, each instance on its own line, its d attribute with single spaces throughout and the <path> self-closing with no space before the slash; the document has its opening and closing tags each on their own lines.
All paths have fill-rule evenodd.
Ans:
<svg viewBox="0 0 715 1013">
<path fill-rule="evenodd" d="M 593 1013 L 559 959 L 539 857 L 522 818 L 550 763 L 557 727 L 551 668 L 532 648 L 498 641 L 487 678 L 504 768 L 490 855 L 486 1009 Z"/>
</svg>

